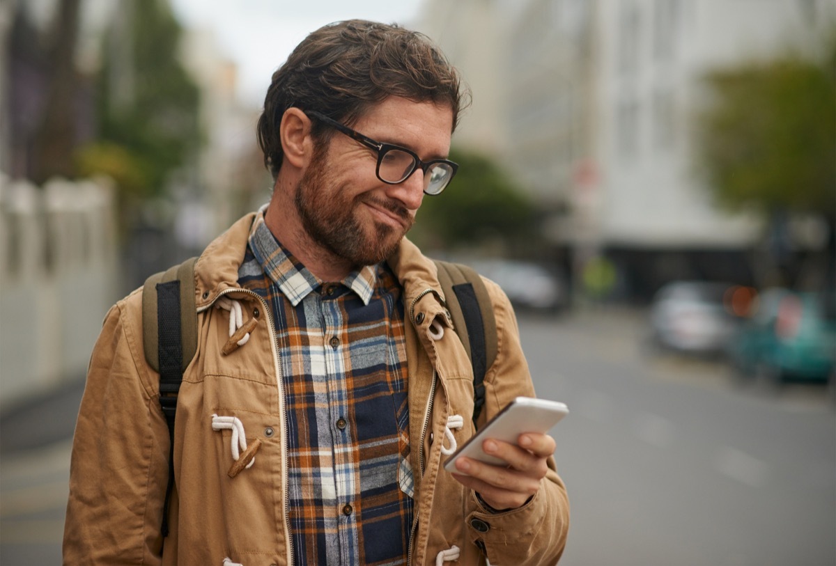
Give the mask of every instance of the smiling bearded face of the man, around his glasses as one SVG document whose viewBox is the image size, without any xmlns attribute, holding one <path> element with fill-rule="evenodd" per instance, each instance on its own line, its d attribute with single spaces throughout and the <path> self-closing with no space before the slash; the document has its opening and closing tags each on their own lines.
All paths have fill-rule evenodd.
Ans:
<svg viewBox="0 0 836 566">
<path fill-rule="evenodd" d="M 452 110 L 390 97 L 353 124 L 361 134 L 413 150 L 421 159 L 446 158 Z M 295 204 L 304 229 L 325 250 L 353 265 L 391 255 L 415 222 L 424 197 L 416 169 L 400 184 L 377 178 L 377 152 L 334 131 L 299 181 Z"/>
</svg>

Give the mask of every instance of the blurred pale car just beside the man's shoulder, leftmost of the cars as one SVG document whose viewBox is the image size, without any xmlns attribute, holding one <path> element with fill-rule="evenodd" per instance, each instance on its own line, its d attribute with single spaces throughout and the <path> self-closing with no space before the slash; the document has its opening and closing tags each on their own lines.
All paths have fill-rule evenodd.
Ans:
<svg viewBox="0 0 836 566">
<path fill-rule="evenodd" d="M 502 259 L 469 263 L 473 269 L 502 287 L 515 308 L 556 312 L 568 305 L 565 280 L 542 265 Z"/>
</svg>

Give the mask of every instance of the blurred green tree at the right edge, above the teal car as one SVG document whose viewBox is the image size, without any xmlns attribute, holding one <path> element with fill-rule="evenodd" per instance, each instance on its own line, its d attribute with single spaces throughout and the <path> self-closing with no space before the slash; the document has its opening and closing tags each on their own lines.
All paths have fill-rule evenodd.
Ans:
<svg viewBox="0 0 836 566">
<path fill-rule="evenodd" d="M 818 215 L 833 255 L 836 31 L 817 56 L 788 52 L 719 68 L 705 85 L 696 160 L 716 200 L 762 211 L 773 235 L 787 215 Z"/>
</svg>

